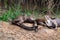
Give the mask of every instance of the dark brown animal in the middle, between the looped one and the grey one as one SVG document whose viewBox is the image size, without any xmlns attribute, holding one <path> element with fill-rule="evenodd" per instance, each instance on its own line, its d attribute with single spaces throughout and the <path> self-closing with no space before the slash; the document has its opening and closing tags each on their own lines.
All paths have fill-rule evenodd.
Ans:
<svg viewBox="0 0 60 40">
<path fill-rule="evenodd" d="M 28 18 L 27 20 L 24 21 L 24 23 L 32 23 L 34 24 L 34 21 L 36 21 L 37 25 L 42 25 L 42 26 L 45 26 L 45 19 L 44 18 L 38 18 L 38 19 L 30 19 Z"/>
</svg>

